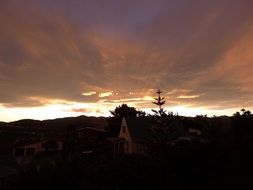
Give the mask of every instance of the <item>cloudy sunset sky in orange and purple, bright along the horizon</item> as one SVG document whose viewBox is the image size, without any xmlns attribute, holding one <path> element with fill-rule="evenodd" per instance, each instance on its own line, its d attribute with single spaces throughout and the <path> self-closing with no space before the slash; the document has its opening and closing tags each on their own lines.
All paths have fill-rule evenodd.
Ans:
<svg viewBox="0 0 253 190">
<path fill-rule="evenodd" d="M 251 0 L 1 0 L 0 121 L 253 108 Z"/>
</svg>

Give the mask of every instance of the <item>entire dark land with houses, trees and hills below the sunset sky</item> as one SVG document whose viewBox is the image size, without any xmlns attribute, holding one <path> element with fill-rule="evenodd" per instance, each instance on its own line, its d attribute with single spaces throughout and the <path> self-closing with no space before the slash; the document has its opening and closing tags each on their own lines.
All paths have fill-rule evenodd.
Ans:
<svg viewBox="0 0 253 190">
<path fill-rule="evenodd" d="M 122 104 L 109 118 L 0 123 L 0 189 L 214 189 L 251 182 L 250 111 L 184 117 L 163 109 L 161 91 L 154 101 L 153 114 Z"/>
</svg>

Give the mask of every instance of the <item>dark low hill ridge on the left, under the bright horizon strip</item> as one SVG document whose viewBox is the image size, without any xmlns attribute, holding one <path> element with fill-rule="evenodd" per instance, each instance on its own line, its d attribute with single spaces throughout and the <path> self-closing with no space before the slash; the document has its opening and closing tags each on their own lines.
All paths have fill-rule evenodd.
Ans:
<svg viewBox="0 0 253 190">
<path fill-rule="evenodd" d="M 33 119 L 22 119 L 18 121 L 9 122 L 10 125 L 20 127 L 38 127 L 48 129 L 66 129 L 68 126 L 75 126 L 77 128 L 82 127 L 95 127 L 98 129 L 105 129 L 107 126 L 106 117 L 66 117 L 49 120 L 33 120 Z"/>
</svg>

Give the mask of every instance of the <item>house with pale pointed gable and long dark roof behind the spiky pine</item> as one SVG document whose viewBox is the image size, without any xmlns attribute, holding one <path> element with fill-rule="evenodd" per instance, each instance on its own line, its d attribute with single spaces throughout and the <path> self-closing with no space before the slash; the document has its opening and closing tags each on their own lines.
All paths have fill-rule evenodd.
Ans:
<svg viewBox="0 0 253 190">
<path fill-rule="evenodd" d="M 162 131 L 162 135 L 172 146 L 181 141 L 191 142 L 201 135 L 200 130 L 186 128 L 180 118 L 176 117 L 168 117 L 167 121 L 165 119 L 163 122 L 149 117 L 123 118 L 118 138 L 114 138 L 114 152 L 145 154 L 147 143 L 157 143 L 152 141 L 156 129 Z"/>
</svg>

